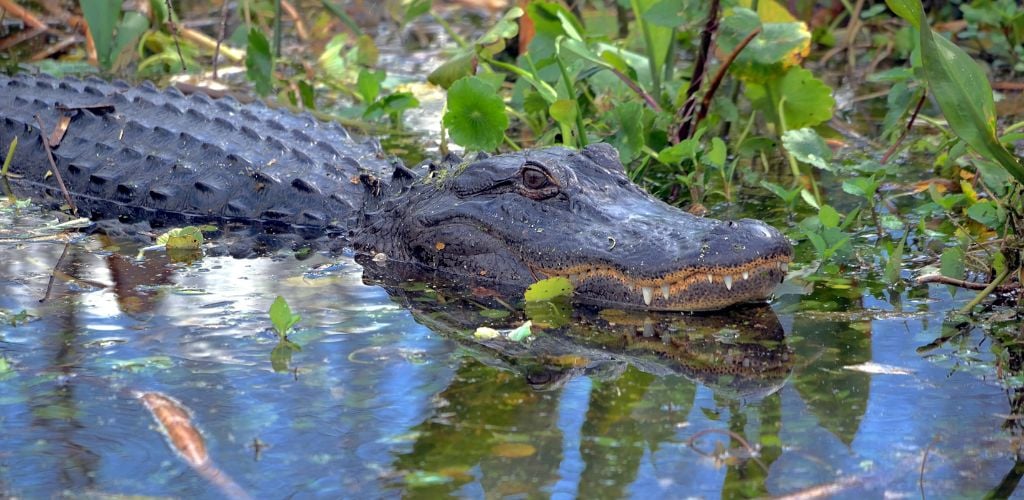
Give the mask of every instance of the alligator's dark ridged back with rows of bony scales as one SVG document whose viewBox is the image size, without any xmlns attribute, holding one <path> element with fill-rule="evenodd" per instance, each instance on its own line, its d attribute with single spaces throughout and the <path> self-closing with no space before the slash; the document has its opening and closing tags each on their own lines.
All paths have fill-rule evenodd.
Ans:
<svg viewBox="0 0 1024 500">
<path fill-rule="evenodd" d="M 36 115 L 80 212 L 93 217 L 229 219 L 344 228 L 364 199 L 353 181 L 390 163 L 335 123 L 152 84 L 0 76 L 0 152 L 19 137 L 11 171 L 32 196 L 60 200 Z"/>
</svg>

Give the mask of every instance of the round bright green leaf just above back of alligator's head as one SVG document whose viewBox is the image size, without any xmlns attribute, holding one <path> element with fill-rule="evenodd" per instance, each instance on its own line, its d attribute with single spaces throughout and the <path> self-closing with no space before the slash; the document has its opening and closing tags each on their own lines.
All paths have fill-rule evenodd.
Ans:
<svg viewBox="0 0 1024 500">
<path fill-rule="evenodd" d="M 505 137 L 509 117 L 501 95 L 490 85 L 479 78 L 467 77 L 449 88 L 443 124 L 459 145 L 493 151 Z"/>
</svg>

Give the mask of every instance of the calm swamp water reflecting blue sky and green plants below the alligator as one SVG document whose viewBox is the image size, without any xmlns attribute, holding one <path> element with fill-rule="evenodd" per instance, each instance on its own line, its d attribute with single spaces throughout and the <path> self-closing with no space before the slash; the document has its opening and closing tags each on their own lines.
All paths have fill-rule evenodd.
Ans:
<svg viewBox="0 0 1024 500">
<path fill-rule="evenodd" d="M 478 340 L 526 318 L 486 291 L 365 284 L 345 256 L 20 239 L 49 217 L 0 212 L 0 496 L 221 496 L 140 391 L 190 409 L 255 498 L 977 497 L 1024 473 L 991 340 L 926 347 L 972 296 L 944 286 L 808 293 L 798 268 L 770 307 L 554 304 L 527 311 L 531 340 Z M 278 295 L 302 316 L 290 359 Z"/>
</svg>

